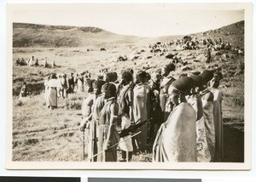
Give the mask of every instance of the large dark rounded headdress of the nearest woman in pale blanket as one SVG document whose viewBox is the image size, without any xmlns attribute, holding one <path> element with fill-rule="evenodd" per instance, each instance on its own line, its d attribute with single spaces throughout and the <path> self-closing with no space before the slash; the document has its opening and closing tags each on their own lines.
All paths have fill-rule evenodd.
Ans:
<svg viewBox="0 0 256 182">
<path fill-rule="evenodd" d="M 191 77 L 180 77 L 172 82 L 171 86 L 176 88 L 177 91 L 185 93 L 194 86 L 194 80 Z"/>
</svg>

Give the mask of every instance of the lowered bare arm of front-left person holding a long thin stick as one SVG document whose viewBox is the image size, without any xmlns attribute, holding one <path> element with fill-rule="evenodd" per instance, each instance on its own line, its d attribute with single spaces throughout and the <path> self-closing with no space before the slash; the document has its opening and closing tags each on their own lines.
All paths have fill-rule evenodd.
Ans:
<svg viewBox="0 0 256 182">
<path fill-rule="evenodd" d="M 114 124 L 116 122 L 116 118 L 118 117 L 118 110 L 119 110 L 119 107 L 117 104 L 110 105 L 110 120 L 109 120 L 109 127 L 108 127 L 108 136 L 103 146 L 104 150 L 108 150 L 110 147 L 111 139 L 113 136 Z"/>
</svg>

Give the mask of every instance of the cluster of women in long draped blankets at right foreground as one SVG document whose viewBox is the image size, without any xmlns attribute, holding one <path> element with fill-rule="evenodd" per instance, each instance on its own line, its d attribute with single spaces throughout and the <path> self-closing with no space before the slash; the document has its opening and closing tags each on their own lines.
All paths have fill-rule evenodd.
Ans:
<svg viewBox="0 0 256 182">
<path fill-rule="evenodd" d="M 154 140 L 154 162 L 221 162 L 220 72 L 181 77 L 168 88 L 172 112 Z"/>
</svg>

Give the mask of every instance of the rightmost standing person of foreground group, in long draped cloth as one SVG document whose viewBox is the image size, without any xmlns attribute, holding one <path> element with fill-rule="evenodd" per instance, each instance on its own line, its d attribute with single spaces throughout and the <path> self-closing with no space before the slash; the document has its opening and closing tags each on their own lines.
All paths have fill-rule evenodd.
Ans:
<svg viewBox="0 0 256 182">
<path fill-rule="evenodd" d="M 215 127 L 215 155 L 213 162 L 222 162 L 224 155 L 223 144 L 223 117 L 222 117 L 222 92 L 218 89 L 219 82 L 223 79 L 221 72 L 216 71 L 213 74 L 212 80 L 209 82 L 209 88 L 214 95 L 213 99 L 213 119 Z"/>
</svg>

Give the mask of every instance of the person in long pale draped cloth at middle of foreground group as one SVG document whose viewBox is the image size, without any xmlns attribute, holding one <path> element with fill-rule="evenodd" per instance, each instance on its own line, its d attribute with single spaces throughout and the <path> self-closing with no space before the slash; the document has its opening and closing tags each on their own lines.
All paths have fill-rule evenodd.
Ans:
<svg viewBox="0 0 256 182">
<path fill-rule="evenodd" d="M 133 113 L 134 121 L 139 123 L 148 120 L 148 93 L 149 87 L 147 84 L 146 71 L 138 71 L 136 76 L 136 85 L 133 88 Z M 137 135 L 137 143 L 140 151 L 147 151 L 148 124 L 143 124 L 139 128 L 142 131 Z"/>
</svg>

